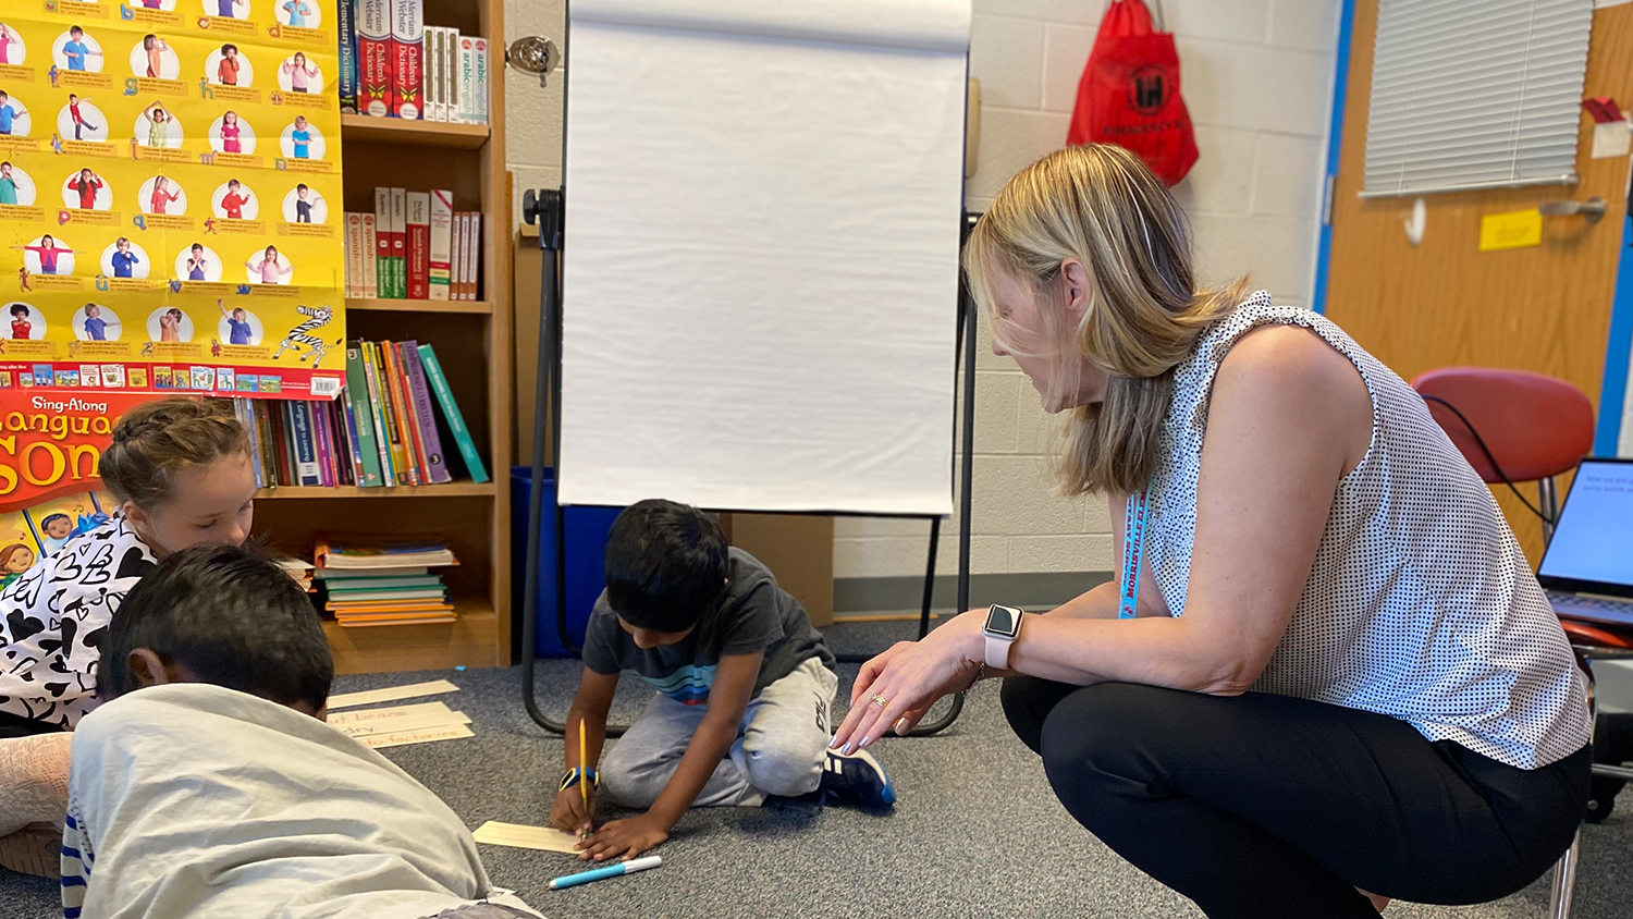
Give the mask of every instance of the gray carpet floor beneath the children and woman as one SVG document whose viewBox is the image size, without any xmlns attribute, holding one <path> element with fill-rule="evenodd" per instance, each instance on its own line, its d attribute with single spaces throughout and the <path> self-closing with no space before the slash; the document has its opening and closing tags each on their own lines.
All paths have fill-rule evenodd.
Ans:
<svg viewBox="0 0 1633 919">
<path fill-rule="evenodd" d="M 838 650 L 880 648 L 910 625 L 844 625 Z M 841 664 L 848 697 L 856 666 Z M 487 819 L 544 823 L 560 775 L 562 741 L 521 707 L 521 669 L 345 677 L 336 692 L 449 677 L 444 699 L 475 736 L 384 751 L 438 792 L 470 828 Z M 542 661 L 537 694 L 560 718 L 576 687 L 572 661 Z M 645 690 L 624 681 L 614 718 L 630 718 Z M 661 868 L 547 890 L 576 870 L 570 855 L 482 847 L 495 883 L 550 919 L 578 917 L 1194 917 L 1189 901 L 1145 877 L 1083 831 L 1055 801 L 1043 769 L 1009 733 L 994 684 L 970 694 L 957 723 L 934 738 L 875 748 L 901 800 L 888 816 L 815 806 L 694 810 L 658 849 Z M 603 815 L 606 816 L 606 815 Z M 1633 792 L 1609 821 L 1586 828 L 1579 919 L 1633 914 Z M 1484 906 L 1398 903 L 1390 917 L 1540 917 L 1546 878 Z M 60 916 L 51 881 L 0 870 L 0 919 Z M 171 919 L 171 917 L 162 917 Z M 245 917 L 251 919 L 251 917 Z M 382 917 L 384 919 L 384 917 Z"/>
</svg>

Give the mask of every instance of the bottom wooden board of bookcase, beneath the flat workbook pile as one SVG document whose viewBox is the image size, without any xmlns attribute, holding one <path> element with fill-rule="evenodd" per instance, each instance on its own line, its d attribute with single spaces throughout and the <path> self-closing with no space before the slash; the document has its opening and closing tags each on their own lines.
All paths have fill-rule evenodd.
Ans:
<svg viewBox="0 0 1633 919">
<path fill-rule="evenodd" d="M 487 597 L 454 599 L 456 622 L 343 627 L 325 620 L 335 673 L 398 673 L 490 668 L 500 642 L 500 617 Z M 509 622 L 503 632 L 508 635 Z"/>
</svg>

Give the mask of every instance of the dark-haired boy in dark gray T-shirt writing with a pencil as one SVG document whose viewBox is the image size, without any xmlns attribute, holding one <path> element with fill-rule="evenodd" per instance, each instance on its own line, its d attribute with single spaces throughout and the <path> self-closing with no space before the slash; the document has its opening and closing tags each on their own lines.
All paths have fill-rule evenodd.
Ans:
<svg viewBox="0 0 1633 919">
<path fill-rule="evenodd" d="M 596 795 L 580 790 L 583 779 L 647 813 L 603 826 L 580 844 L 583 857 L 632 859 L 668 839 L 692 806 L 759 806 L 813 792 L 831 803 L 895 803 L 872 756 L 828 749 L 839 679 L 805 607 L 754 557 L 728 548 L 714 517 L 663 499 L 630 506 L 607 535 L 606 576 L 585 633 L 550 823 L 593 829 Z M 658 695 L 601 759 L 622 671 Z M 580 769 L 580 723 L 599 770 Z"/>
</svg>

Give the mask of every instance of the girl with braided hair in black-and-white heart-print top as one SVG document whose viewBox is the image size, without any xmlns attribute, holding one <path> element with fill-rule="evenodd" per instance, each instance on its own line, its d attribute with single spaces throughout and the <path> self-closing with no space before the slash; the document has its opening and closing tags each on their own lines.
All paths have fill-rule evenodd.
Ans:
<svg viewBox="0 0 1633 919">
<path fill-rule="evenodd" d="M 57 873 L 69 731 L 95 705 L 103 637 L 160 558 L 250 534 L 248 436 L 225 402 L 163 398 L 127 411 L 101 454 L 118 508 L 0 591 L 0 865 Z"/>
</svg>

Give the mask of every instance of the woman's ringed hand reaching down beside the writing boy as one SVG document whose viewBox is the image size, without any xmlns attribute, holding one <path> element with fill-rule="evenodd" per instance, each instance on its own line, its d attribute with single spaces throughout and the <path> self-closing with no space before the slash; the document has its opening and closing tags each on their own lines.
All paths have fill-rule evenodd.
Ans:
<svg viewBox="0 0 1633 919">
<path fill-rule="evenodd" d="M 942 695 L 968 689 L 981 666 L 985 610 L 954 617 L 919 642 L 898 642 L 862 664 L 851 689 L 851 713 L 833 746 L 854 751 L 885 731 L 905 735 Z"/>
</svg>

